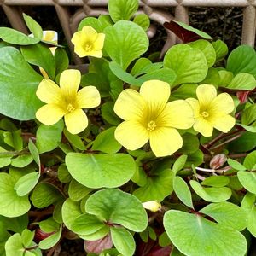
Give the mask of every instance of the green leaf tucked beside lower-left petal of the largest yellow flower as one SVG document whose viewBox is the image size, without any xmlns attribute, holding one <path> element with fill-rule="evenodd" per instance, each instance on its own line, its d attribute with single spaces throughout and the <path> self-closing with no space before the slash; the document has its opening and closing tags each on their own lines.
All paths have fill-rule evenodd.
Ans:
<svg viewBox="0 0 256 256">
<path fill-rule="evenodd" d="M 115 127 L 102 131 L 102 133 L 96 137 L 91 149 L 99 150 L 108 154 L 118 152 L 122 148 L 122 145 L 115 139 L 114 131 Z"/>
</svg>

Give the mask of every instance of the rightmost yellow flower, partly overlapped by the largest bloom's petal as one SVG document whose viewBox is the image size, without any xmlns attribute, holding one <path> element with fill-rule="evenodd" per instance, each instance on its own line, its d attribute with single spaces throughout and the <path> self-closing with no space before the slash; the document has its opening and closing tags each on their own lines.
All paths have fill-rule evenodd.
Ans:
<svg viewBox="0 0 256 256">
<path fill-rule="evenodd" d="M 196 89 L 198 100 L 189 98 L 189 102 L 195 114 L 193 128 L 203 136 L 212 136 L 213 128 L 228 132 L 235 125 L 235 119 L 229 115 L 235 106 L 233 99 L 227 93 L 217 96 L 217 90 L 211 84 L 201 84 Z"/>
</svg>

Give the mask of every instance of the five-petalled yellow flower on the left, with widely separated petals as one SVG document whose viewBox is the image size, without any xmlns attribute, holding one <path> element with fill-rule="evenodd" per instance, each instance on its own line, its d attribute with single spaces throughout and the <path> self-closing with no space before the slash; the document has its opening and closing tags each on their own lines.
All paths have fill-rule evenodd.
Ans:
<svg viewBox="0 0 256 256">
<path fill-rule="evenodd" d="M 54 125 L 64 116 L 70 133 L 84 131 L 88 126 L 88 119 L 82 108 L 97 107 L 101 96 L 95 86 L 86 86 L 79 90 L 80 80 L 81 73 L 75 69 L 61 73 L 60 87 L 50 79 L 43 79 L 36 94 L 47 104 L 38 109 L 37 119 L 44 125 Z"/>
</svg>

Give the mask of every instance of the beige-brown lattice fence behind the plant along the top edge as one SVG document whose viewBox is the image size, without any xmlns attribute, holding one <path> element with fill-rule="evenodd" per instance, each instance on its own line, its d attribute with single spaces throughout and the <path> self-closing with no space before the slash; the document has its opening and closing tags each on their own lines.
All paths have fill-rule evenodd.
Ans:
<svg viewBox="0 0 256 256">
<path fill-rule="evenodd" d="M 0 0 L 4 13 L 11 26 L 21 32 L 27 33 L 26 25 L 22 19 L 20 6 L 53 6 L 60 20 L 67 44 L 73 49 L 71 37 L 77 30 L 80 20 L 87 16 L 107 14 L 108 0 Z M 78 10 L 71 15 L 69 7 Z M 164 8 L 174 7 L 175 15 L 171 15 Z M 256 0 L 140 0 L 139 13 L 145 13 L 150 20 L 162 25 L 165 21 L 180 20 L 189 24 L 189 7 L 240 7 L 243 11 L 241 44 L 254 46 L 256 32 Z M 155 27 L 148 30 L 148 37 L 154 36 Z M 177 38 L 172 32 L 166 31 L 167 40 L 162 51 L 176 44 Z M 75 63 L 81 63 L 77 56 L 73 56 Z"/>
</svg>

